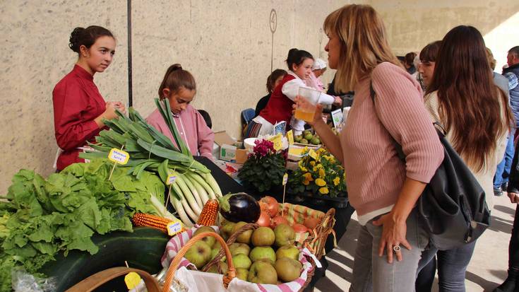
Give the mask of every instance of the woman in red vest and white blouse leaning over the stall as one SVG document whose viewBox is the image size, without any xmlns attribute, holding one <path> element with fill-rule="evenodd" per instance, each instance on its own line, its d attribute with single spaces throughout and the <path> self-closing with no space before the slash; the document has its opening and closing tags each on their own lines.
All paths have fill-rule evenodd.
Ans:
<svg viewBox="0 0 519 292">
<path fill-rule="evenodd" d="M 299 87 L 308 87 L 304 81 L 309 78 L 314 57 L 302 49 L 290 49 L 287 56 L 288 74 L 282 78 L 281 83 L 274 88 L 266 107 L 261 110 L 246 129 L 244 139 L 249 137 L 267 136 L 274 132 L 274 124 L 286 122 L 287 128 L 294 130 L 294 134 L 300 134 L 304 130 L 305 122 L 292 118 L 292 105 L 299 94 Z M 335 101 L 334 96 L 322 93 L 319 102 L 330 105 Z"/>
</svg>

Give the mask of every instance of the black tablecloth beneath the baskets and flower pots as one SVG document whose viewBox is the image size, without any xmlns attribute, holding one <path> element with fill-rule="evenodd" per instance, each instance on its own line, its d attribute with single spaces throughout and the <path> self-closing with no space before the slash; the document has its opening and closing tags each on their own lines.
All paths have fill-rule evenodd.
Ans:
<svg viewBox="0 0 519 292">
<path fill-rule="evenodd" d="M 200 163 L 205 165 L 207 168 L 211 170 L 211 174 L 213 177 L 215 177 L 215 180 L 218 182 L 218 185 L 220 186 L 220 189 L 222 189 L 222 194 L 227 193 L 235 193 L 235 192 L 246 192 L 248 194 L 251 194 L 253 197 L 256 197 L 256 199 L 260 199 L 265 194 L 258 194 L 257 192 L 254 192 L 251 189 L 246 189 L 242 185 L 240 185 L 238 182 L 232 179 L 225 171 L 221 170 L 213 161 L 211 161 L 208 158 L 205 158 L 203 156 L 196 156 L 196 160 L 198 160 Z M 282 188 L 274 190 L 272 193 L 269 194 L 272 197 L 275 197 L 278 199 L 278 201 L 281 201 L 282 199 Z M 303 206 L 307 206 L 311 209 L 323 211 L 326 213 L 328 209 L 330 209 L 330 206 L 322 205 L 322 204 L 312 204 L 312 202 L 306 201 L 306 202 L 294 202 L 290 196 L 285 197 L 286 202 L 290 204 L 299 204 Z M 337 236 L 337 242 L 339 242 L 340 238 L 342 238 L 342 235 L 346 232 L 346 228 L 348 223 L 350 223 L 350 218 L 354 212 L 354 209 L 350 204 L 347 204 L 346 208 L 335 208 L 335 226 L 333 227 L 333 230 L 335 230 L 335 235 Z M 333 237 L 328 237 L 328 240 L 326 241 L 325 245 L 326 253 L 333 250 Z M 305 291 L 311 291 L 311 288 L 314 287 L 316 282 L 321 279 L 326 269 L 328 268 L 328 262 L 326 261 L 326 256 L 321 257 L 321 264 L 323 264 L 323 268 L 316 269 L 314 276 L 312 277 L 312 281 L 309 284 L 308 288 Z"/>
</svg>

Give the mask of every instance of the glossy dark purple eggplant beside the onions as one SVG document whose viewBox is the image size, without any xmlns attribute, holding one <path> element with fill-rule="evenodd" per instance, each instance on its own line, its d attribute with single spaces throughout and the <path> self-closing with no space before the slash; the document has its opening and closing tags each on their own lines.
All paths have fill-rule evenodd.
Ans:
<svg viewBox="0 0 519 292">
<path fill-rule="evenodd" d="M 256 223 L 261 214 L 258 201 L 244 192 L 226 194 L 218 198 L 220 214 L 231 222 Z"/>
</svg>

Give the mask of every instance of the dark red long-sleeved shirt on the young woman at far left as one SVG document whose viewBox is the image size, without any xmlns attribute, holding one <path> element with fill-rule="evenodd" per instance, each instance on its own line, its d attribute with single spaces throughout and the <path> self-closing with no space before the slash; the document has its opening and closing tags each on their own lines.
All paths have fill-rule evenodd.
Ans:
<svg viewBox="0 0 519 292">
<path fill-rule="evenodd" d="M 63 149 L 57 169 L 63 170 L 72 163 L 84 161 L 78 157 L 78 147 L 85 146 L 87 141 L 95 141 L 94 137 L 102 129 L 94 119 L 105 112 L 106 103 L 93 76 L 78 65 L 56 84 L 52 103 L 54 134 L 59 148 Z"/>
</svg>

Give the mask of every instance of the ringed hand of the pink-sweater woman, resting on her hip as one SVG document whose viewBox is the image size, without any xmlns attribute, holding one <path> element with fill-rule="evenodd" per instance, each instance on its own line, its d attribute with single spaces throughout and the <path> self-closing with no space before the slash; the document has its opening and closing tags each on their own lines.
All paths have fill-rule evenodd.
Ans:
<svg viewBox="0 0 519 292">
<path fill-rule="evenodd" d="M 402 260 L 400 245 L 407 250 L 411 250 L 411 245 L 405 239 L 407 224 L 405 221 L 394 221 L 391 213 L 382 215 L 378 220 L 373 221 L 374 226 L 382 226 L 382 236 L 378 245 L 378 256 L 384 255 L 384 250 L 388 254 L 388 263 L 393 262 L 393 252 L 395 252 L 398 262 Z M 396 247 L 396 248 L 395 248 Z"/>
</svg>

